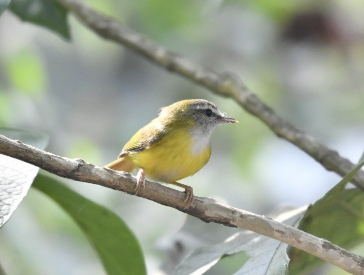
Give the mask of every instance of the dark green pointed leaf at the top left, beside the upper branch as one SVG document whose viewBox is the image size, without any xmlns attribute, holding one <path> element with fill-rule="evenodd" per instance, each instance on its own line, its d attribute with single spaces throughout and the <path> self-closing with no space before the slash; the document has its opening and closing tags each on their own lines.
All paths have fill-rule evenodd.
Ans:
<svg viewBox="0 0 364 275">
<path fill-rule="evenodd" d="M 70 40 L 67 10 L 56 1 L 12 0 L 9 8 L 21 20 L 44 26 Z"/>
</svg>

